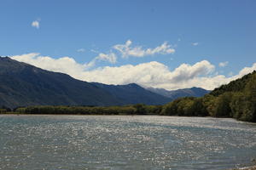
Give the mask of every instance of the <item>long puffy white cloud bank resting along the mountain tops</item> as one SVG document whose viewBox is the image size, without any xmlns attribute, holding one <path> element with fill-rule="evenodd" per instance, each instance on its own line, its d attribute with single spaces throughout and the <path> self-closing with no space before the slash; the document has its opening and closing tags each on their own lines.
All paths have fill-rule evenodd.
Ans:
<svg viewBox="0 0 256 170">
<path fill-rule="evenodd" d="M 182 64 L 171 71 L 166 65 L 156 61 L 139 65 L 105 66 L 88 70 L 90 63 L 82 65 L 70 57 L 53 59 L 49 56 L 33 53 L 15 55 L 11 58 L 36 65 L 48 71 L 67 73 L 74 78 L 87 82 L 106 84 L 136 82 L 144 87 L 166 88 L 169 90 L 191 87 L 213 89 L 256 70 L 256 63 L 254 63 L 251 67 L 243 68 L 236 76 L 225 77 L 224 75 L 214 74 L 215 66 L 207 60 L 202 60 L 194 65 Z M 116 62 L 115 54 L 99 54 L 96 59 Z"/>
</svg>

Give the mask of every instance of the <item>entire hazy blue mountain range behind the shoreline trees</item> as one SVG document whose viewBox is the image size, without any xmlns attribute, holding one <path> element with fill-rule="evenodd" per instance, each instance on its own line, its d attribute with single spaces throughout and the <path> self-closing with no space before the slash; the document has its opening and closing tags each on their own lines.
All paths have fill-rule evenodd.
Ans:
<svg viewBox="0 0 256 170">
<path fill-rule="evenodd" d="M 29 105 L 163 105 L 177 97 L 207 93 L 202 88 L 167 91 L 146 89 L 135 83 L 84 82 L 67 74 L 0 57 L 0 106 L 9 108 Z"/>
</svg>

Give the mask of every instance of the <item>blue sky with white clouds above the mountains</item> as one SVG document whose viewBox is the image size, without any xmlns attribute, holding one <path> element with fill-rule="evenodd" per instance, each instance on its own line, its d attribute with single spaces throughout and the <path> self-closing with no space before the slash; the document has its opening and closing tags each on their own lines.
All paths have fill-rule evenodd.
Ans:
<svg viewBox="0 0 256 170">
<path fill-rule="evenodd" d="M 217 88 L 256 70 L 254 0 L 1 0 L 0 55 L 86 82 Z"/>
</svg>

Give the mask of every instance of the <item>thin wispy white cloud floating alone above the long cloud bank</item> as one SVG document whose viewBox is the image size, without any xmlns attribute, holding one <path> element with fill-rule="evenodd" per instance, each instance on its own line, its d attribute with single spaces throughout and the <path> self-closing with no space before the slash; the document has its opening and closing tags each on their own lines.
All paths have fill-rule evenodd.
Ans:
<svg viewBox="0 0 256 170">
<path fill-rule="evenodd" d="M 122 57 L 127 58 L 129 56 L 133 57 L 144 57 L 147 55 L 154 54 L 173 54 L 175 53 L 175 49 L 171 47 L 167 42 L 162 43 L 160 46 L 156 48 L 146 48 L 143 49 L 141 46 L 131 48 L 131 40 L 125 42 L 125 44 L 117 44 L 114 45 L 113 48 L 118 50 Z"/>
</svg>

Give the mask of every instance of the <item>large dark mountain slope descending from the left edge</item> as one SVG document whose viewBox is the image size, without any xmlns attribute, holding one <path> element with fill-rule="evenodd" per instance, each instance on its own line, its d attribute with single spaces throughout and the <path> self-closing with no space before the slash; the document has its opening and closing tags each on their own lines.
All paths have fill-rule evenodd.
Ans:
<svg viewBox="0 0 256 170">
<path fill-rule="evenodd" d="M 89 82 L 0 58 L 0 105 L 121 105 Z"/>
</svg>

